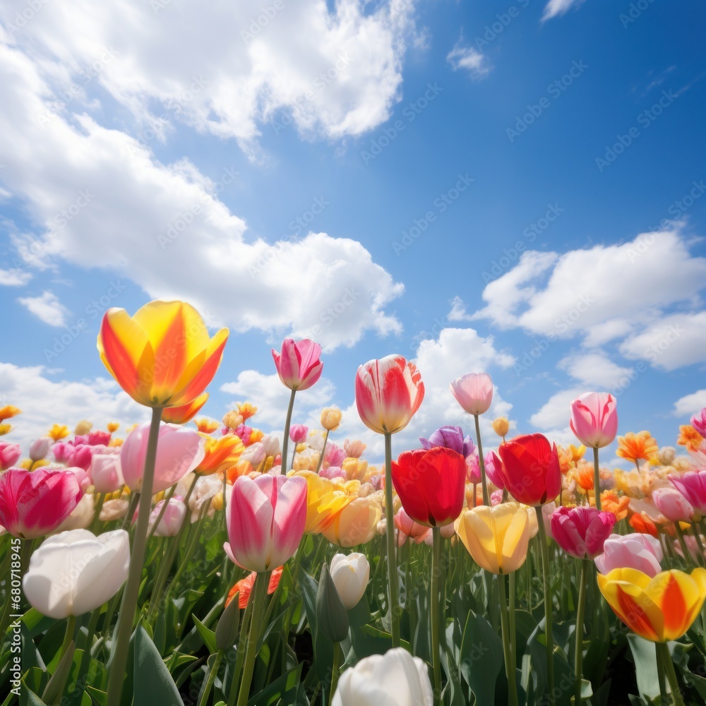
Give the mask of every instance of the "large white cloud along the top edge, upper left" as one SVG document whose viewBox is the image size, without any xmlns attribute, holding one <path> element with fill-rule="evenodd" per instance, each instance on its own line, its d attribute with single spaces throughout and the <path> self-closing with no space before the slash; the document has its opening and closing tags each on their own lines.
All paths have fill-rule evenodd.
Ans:
<svg viewBox="0 0 706 706">
<path fill-rule="evenodd" d="M 9 0 L 0 19 L 45 77 L 59 79 L 57 112 L 97 83 L 157 132 L 179 121 L 244 143 L 278 111 L 330 138 L 381 124 L 400 98 L 405 44 L 417 39 L 409 0 L 374 9 L 357 0 L 331 9 L 324 0 L 67 0 L 42 3 L 23 22 L 28 8 Z"/>
</svg>

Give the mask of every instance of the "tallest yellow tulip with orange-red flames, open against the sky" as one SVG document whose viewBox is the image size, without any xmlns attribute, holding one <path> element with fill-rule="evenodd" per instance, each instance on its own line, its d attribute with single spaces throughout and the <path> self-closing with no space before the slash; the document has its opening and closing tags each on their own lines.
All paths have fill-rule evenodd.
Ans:
<svg viewBox="0 0 706 706">
<path fill-rule="evenodd" d="M 97 348 L 109 373 L 140 405 L 185 407 L 213 380 L 227 339 L 227 328 L 210 337 L 190 304 L 150 301 L 134 316 L 109 309 Z"/>
</svg>

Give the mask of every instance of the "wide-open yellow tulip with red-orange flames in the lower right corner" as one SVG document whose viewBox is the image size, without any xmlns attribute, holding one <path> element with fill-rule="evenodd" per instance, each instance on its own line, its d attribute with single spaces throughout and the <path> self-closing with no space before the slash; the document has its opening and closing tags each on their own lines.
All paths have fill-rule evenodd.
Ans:
<svg viewBox="0 0 706 706">
<path fill-rule="evenodd" d="M 614 613 L 645 640 L 669 642 L 686 633 L 706 599 L 706 569 L 691 575 L 671 569 L 650 578 L 633 568 L 598 575 L 598 587 Z"/>
</svg>

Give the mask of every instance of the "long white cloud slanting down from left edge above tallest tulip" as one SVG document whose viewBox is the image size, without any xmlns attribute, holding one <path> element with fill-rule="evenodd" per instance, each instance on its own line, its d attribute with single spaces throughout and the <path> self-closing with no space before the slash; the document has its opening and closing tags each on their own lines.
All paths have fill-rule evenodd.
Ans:
<svg viewBox="0 0 706 706">
<path fill-rule="evenodd" d="M 79 35 L 83 21 L 76 18 Z M 74 115 L 76 124 L 59 115 L 42 121 L 49 93 L 27 56 L 0 44 L 3 176 L 43 229 L 35 239 L 13 236 L 26 261 L 107 268 L 150 297 L 188 299 L 209 323 L 275 337 L 311 333 L 327 349 L 352 345 L 368 330 L 399 333 L 385 306 L 403 286 L 358 241 L 309 233 L 273 245 L 246 242 L 246 223 L 217 198 L 237 189 L 232 167 L 214 183 L 188 160 L 157 162 L 88 114 Z M 247 306 L 235 305 L 244 291 L 252 294 Z"/>
</svg>

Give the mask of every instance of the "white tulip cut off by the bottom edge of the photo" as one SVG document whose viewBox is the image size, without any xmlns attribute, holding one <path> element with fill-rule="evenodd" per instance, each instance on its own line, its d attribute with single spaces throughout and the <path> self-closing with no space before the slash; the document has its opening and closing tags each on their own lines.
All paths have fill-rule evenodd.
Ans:
<svg viewBox="0 0 706 706">
<path fill-rule="evenodd" d="M 331 706 L 433 706 L 426 664 L 402 647 L 364 657 L 340 676 Z"/>
</svg>

